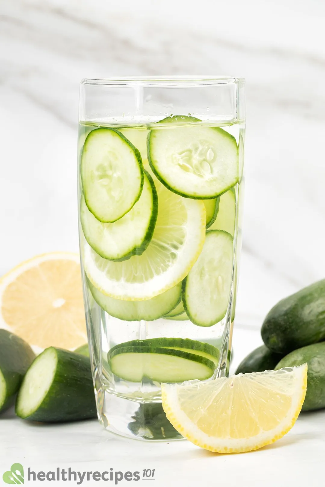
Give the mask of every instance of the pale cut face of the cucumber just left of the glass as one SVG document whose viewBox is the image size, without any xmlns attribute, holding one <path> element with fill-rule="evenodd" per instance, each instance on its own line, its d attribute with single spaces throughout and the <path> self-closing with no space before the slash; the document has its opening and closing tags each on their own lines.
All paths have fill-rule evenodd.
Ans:
<svg viewBox="0 0 325 487">
<path fill-rule="evenodd" d="M 47 348 L 32 363 L 20 387 L 16 414 L 28 418 L 41 405 L 49 392 L 57 369 L 57 352 Z"/>
</svg>

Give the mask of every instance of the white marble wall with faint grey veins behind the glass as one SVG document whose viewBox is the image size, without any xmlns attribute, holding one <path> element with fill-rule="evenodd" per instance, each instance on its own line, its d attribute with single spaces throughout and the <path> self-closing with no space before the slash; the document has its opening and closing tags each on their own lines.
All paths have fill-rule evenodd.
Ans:
<svg viewBox="0 0 325 487">
<path fill-rule="evenodd" d="M 257 346 L 269 308 L 325 276 L 324 19 L 322 0 L 1 0 L 0 273 L 77 250 L 82 77 L 245 76 L 234 347 Z"/>
</svg>

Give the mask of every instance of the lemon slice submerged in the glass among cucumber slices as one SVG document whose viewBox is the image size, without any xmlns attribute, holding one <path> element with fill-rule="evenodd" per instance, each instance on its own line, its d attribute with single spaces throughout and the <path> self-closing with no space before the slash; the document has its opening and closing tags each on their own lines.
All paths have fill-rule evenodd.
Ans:
<svg viewBox="0 0 325 487">
<path fill-rule="evenodd" d="M 82 258 L 89 281 L 119 300 L 148 300 L 182 281 L 205 241 L 206 211 L 202 201 L 183 198 L 156 179 L 158 217 L 153 237 L 142 255 L 113 262 L 100 257 L 82 239 Z"/>
</svg>

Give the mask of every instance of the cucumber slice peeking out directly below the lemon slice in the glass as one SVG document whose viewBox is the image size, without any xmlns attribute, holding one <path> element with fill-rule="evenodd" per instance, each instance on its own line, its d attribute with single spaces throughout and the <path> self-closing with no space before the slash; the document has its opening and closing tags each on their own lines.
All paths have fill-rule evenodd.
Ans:
<svg viewBox="0 0 325 487">
<path fill-rule="evenodd" d="M 94 300 L 107 313 L 125 321 L 153 321 L 172 310 L 180 300 L 181 282 L 158 296 L 146 301 L 123 301 L 105 296 L 88 281 Z"/>
</svg>

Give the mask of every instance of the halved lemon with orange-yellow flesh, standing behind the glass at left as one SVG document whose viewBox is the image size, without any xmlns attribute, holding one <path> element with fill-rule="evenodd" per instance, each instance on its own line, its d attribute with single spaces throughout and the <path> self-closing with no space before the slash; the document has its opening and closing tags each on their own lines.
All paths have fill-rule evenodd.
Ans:
<svg viewBox="0 0 325 487">
<path fill-rule="evenodd" d="M 43 254 L 0 280 L 0 328 L 36 350 L 74 349 L 87 341 L 79 255 Z"/>
</svg>

